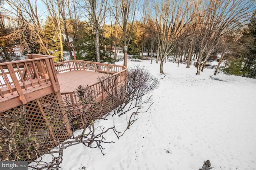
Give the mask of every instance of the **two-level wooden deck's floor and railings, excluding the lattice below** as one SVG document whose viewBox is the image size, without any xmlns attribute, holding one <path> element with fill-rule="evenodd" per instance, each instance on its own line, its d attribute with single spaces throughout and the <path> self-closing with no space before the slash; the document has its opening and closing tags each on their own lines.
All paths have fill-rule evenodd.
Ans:
<svg viewBox="0 0 256 170">
<path fill-rule="evenodd" d="M 97 101 L 106 93 L 98 77 L 117 76 L 116 85 L 127 81 L 127 68 L 90 61 L 53 63 L 52 56 L 29 54 L 26 60 L 0 63 L 0 113 L 51 93 L 76 102 L 74 91 L 88 85 Z M 108 78 L 110 78 L 108 76 Z"/>
</svg>

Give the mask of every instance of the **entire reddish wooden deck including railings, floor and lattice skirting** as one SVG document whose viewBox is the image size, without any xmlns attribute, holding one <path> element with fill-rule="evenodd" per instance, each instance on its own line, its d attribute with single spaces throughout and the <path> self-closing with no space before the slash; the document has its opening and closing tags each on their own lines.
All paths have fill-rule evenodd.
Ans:
<svg viewBox="0 0 256 170">
<path fill-rule="evenodd" d="M 127 68 L 124 66 L 90 61 L 53 63 L 52 58 L 28 54 L 25 60 L 0 63 L 1 120 L 8 124 L 13 121 L 26 123 L 27 127 L 20 134 L 41 141 L 42 150 L 57 146 L 58 142 L 70 138 L 73 130 L 83 128 L 85 124 L 108 113 L 113 104 L 113 99 L 108 96 L 108 88 L 118 92 L 127 83 Z M 98 77 L 102 76 L 104 78 L 99 82 Z M 84 95 L 92 95 L 90 99 L 93 101 L 90 102 L 99 102 L 100 107 L 94 107 L 92 103 L 85 105 L 80 100 L 74 92 L 79 85 L 88 85 Z M 52 105 L 55 107 L 50 107 Z M 22 114 L 19 114 L 20 107 Z M 15 117 L 16 113 L 21 117 Z M 14 119 L 9 116 L 14 116 Z M 3 127 L 0 126 L 0 129 Z M 6 135 L 1 136 L 4 142 L 0 141 L 0 146 L 6 151 L 14 150 L 21 160 L 36 159 L 34 152 L 27 150 L 24 154 L 23 145 L 19 146 L 20 140 L 15 140 L 17 147 L 9 148 L 10 143 L 5 142 L 5 137 L 10 136 L 10 131 L 7 129 Z"/>
</svg>

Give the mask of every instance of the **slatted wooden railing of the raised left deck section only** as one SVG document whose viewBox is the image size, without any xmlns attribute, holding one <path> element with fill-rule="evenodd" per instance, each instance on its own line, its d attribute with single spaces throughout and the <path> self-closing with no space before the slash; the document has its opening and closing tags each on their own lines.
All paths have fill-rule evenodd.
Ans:
<svg viewBox="0 0 256 170">
<path fill-rule="evenodd" d="M 20 61 L 0 63 L 0 102 L 18 93 L 23 104 L 28 101 L 24 94 L 28 89 L 40 87 L 43 83 L 52 85 L 58 91 L 58 78 L 52 62 L 52 56 L 36 57 Z"/>
</svg>

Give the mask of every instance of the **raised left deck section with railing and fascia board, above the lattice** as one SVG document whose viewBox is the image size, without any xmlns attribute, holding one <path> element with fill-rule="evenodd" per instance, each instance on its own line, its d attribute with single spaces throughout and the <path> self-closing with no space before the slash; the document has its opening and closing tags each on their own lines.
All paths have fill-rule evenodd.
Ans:
<svg viewBox="0 0 256 170">
<path fill-rule="evenodd" d="M 0 63 L 0 113 L 60 91 L 52 58 Z"/>
</svg>

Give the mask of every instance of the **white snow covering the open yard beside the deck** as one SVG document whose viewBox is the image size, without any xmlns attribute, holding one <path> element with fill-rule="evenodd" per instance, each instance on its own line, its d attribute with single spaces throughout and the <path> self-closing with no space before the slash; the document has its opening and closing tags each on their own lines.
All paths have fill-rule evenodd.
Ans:
<svg viewBox="0 0 256 170">
<path fill-rule="evenodd" d="M 112 132 L 104 135 L 115 142 L 102 144 L 104 156 L 82 144 L 64 150 L 61 170 L 199 170 L 204 160 L 216 170 L 256 170 L 256 79 L 214 76 L 207 68 L 196 75 L 194 66 L 172 62 L 164 64 L 165 74 L 155 61 L 129 60 L 133 65 L 144 65 L 159 79 L 153 105 L 119 140 Z M 95 127 L 112 127 L 115 119 L 123 132 L 131 113 L 110 115 Z"/>
</svg>

